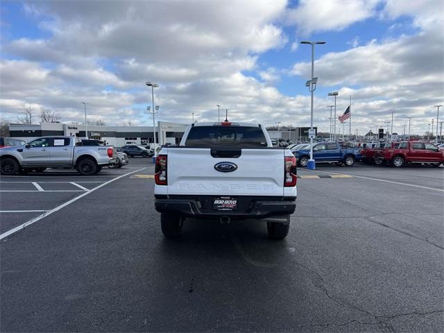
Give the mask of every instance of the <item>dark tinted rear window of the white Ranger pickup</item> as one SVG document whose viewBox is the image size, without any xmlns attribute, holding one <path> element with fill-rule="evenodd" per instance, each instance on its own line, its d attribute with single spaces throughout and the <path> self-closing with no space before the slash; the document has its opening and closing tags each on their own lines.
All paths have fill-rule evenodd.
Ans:
<svg viewBox="0 0 444 333">
<path fill-rule="evenodd" d="M 194 126 L 189 130 L 185 146 L 213 147 L 266 147 L 264 132 L 259 127 L 247 126 Z"/>
</svg>

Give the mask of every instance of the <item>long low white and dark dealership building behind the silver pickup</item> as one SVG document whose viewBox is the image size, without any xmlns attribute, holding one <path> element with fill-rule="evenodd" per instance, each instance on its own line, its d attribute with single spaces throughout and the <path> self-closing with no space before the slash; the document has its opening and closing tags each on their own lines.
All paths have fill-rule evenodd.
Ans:
<svg viewBox="0 0 444 333">
<path fill-rule="evenodd" d="M 178 144 L 182 139 L 185 123 L 170 123 L 157 121 L 155 126 L 156 142 L 158 144 Z M 10 137 L 24 139 L 30 142 L 37 137 L 45 136 L 69 136 L 86 137 L 84 125 L 69 123 L 40 123 L 23 124 L 11 123 L 9 126 Z M 153 143 L 153 126 L 87 126 L 88 137 L 98 139 L 110 146 L 125 146 L 126 144 L 150 144 Z"/>
</svg>

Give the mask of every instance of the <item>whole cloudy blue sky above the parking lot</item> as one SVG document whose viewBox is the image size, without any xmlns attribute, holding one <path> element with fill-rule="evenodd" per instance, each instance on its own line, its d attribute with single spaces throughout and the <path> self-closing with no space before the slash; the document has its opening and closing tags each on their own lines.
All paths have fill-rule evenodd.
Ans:
<svg viewBox="0 0 444 333">
<path fill-rule="evenodd" d="M 309 125 L 316 46 L 314 124 L 329 129 L 352 95 L 352 131 L 407 117 L 424 133 L 444 102 L 442 0 L 1 1 L 1 117 L 43 106 L 62 121 L 88 114 L 109 125 L 158 119 Z M 442 109 L 441 109 L 442 110 Z M 444 120 L 444 110 L 442 112 Z"/>
</svg>

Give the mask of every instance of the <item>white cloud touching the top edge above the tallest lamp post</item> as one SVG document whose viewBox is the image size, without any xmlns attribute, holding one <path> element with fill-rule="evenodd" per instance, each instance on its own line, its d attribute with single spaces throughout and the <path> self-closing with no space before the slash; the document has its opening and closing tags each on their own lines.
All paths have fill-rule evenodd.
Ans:
<svg viewBox="0 0 444 333">
<path fill-rule="evenodd" d="M 301 0 L 287 13 L 287 24 L 296 24 L 301 35 L 340 31 L 375 15 L 379 0 Z"/>
</svg>

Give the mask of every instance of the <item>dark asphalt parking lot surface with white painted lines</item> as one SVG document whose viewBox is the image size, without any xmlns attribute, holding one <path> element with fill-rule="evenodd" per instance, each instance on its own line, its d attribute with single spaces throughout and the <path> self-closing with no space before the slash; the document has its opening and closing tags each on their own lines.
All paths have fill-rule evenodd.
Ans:
<svg viewBox="0 0 444 333">
<path fill-rule="evenodd" d="M 150 161 L 0 178 L 1 332 L 443 332 L 443 167 L 299 169 L 284 241 L 169 240 Z"/>
</svg>

